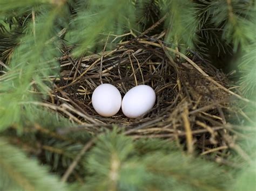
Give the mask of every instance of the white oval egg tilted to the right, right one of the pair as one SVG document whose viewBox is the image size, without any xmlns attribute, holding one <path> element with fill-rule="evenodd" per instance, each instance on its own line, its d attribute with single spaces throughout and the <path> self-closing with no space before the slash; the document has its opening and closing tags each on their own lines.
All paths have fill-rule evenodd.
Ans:
<svg viewBox="0 0 256 191">
<path fill-rule="evenodd" d="M 125 94 L 122 111 L 126 117 L 137 118 L 152 109 L 154 102 L 156 102 L 156 93 L 150 86 L 136 86 Z"/>
</svg>

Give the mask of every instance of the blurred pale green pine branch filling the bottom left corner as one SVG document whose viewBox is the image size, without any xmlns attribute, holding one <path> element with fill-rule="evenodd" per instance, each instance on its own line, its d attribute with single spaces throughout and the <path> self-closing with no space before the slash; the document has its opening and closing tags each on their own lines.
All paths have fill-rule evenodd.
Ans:
<svg viewBox="0 0 256 191">
<path fill-rule="evenodd" d="M 35 159 L 0 139 L 0 190 L 68 190 Z"/>
</svg>

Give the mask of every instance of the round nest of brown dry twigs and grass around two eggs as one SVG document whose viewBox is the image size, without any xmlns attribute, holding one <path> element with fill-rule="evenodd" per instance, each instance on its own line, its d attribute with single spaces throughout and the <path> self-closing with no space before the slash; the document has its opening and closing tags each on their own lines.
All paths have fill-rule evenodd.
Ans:
<svg viewBox="0 0 256 191">
<path fill-rule="evenodd" d="M 223 146 L 226 121 L 233 112 L 232 93 L 226 76 L 198 56 L 186 56 L 149 38 L 80 59 L 65 55 L 60 63 L 62 76 L 55 80 L 51 102 L 79 125 L 59 133 L 97 134 L 118 126 L 133 138 L 185 142 L 191 151 L 206 145 Z M 122 110 L 113 117 L 99 116 L 92 107 L 91 96 L 102 83 L 113 84 L 122 96 L 134 86 L 147 84 L 156 92 L 156 104 L 137 119 L 127 118 Z"/>
</svg>

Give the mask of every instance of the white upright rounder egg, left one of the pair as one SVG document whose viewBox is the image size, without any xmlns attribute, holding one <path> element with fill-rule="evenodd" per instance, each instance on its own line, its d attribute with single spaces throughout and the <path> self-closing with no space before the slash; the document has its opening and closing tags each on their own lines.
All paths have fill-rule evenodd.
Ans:
<svg viewBox="0 0 256 191">
<path fill-rule="evenodd" d="M 101 84 L 92 93 L 92 106 L 101 116 L 113 116 L 119 111 L 121 104 L 122 96 L 111 84 Z"/>
</svg>

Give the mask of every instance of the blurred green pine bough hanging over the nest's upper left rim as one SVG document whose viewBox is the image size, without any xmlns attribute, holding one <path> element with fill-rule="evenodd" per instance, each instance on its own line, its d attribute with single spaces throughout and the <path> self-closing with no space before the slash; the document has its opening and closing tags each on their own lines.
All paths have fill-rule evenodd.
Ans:
<svg viewBox="0 0 256 191">
<path fill-rule="evenodd" d="M 70 20 L 66 40 L 79 44 L 73 54 L 80 55 L 93 48 L 96 41 L 109 33 L 123 34 L 134 23 L 134 9 L 130 1 L 78 1 L 77 16 Z M 86 10 L 86 11 L 85 11 Z M 104 35 L 100 35 L 104 34 Z M 105 41 L 102 42 L 104 44 Z"/>
</svg>

